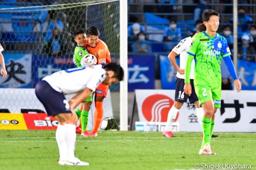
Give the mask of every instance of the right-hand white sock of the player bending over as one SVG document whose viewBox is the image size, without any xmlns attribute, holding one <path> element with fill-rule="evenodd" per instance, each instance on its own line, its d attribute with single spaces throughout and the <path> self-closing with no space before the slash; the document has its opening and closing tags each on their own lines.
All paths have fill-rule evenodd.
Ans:
<svg viewBox="0 0 256 170">
<path fill-rule="evenodd" d="M 76 125 L 65 124 L 66 136 L 65 141 L 67 144 L 67 159 L 72 160 L 75 158 L 75 146 L 76 146 Z"/>
</svg>

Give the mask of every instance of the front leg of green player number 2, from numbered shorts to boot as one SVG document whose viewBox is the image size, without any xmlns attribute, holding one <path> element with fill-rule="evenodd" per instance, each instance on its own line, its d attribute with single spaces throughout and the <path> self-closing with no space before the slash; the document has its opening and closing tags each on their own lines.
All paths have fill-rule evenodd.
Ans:
<svg viewBox="0 0 256 170">
<path fill-rule="evenodd" d="M 212 102 L 212 91 L 210 87 L 204 84 L 195 86 L 195 91 L 199 99 L 199 102 L 202 103 L 202 107 L 204 109 L 204 116 L 202 118 L 204 136 L 199 154 L 212 154 L 210 146 L 211 122 L 212 115 L 214 112 L 214 105 Z"/>
</svg>

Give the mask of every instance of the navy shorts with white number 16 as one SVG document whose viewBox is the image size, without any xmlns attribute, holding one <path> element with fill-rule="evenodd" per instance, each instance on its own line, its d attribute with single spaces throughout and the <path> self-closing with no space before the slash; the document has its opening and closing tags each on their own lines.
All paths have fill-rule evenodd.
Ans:
<svg viewBox="0 0 256 170">
<path fill-rule="evenodd" d="M 181 102 L 181 103 L 187 103 L 188 100 L 189 100 L 189 103 L 194 103 L 194 102 L 198 101 L 198 98 L 197 98 L 196 92 L 195 92 L 193 79 L 190 79 L 190 84 L 192 87 L 192 94 L 189 97 L 187 94 L 184 93 L 185 80 L 176 77 L 175 101 Z"/>
</svg>

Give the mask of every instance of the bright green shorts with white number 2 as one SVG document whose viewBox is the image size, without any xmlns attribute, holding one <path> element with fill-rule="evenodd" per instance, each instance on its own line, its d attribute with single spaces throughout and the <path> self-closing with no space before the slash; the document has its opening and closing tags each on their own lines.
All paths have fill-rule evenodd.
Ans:
<svg viewBox="0 0 256 170">
<path fill-rule="evenodd" d="M 205 84 L 195 86 L 196 95 L 199 99 L 200 105 L 207 101 L 213 101 L 215 108 L 220 108 L 221 103 L 221 87 L 211 88 Z"/>
</svg>

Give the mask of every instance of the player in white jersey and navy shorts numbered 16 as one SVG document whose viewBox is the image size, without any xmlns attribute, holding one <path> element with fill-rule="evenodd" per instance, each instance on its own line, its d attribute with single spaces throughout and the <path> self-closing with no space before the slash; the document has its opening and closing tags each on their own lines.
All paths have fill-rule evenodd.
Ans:
<svg viewBox="0 0 256 170">
<path fill-rule="evenodd" d="M 204 24 L 200 24 L 197 28 L 197 33 L 205 31 L 206 27 Z M 196 35 L 195 34 L 195 35 Z M 194 65 L 195 61 L 191 64 L 191 73 L 190 73 L 190 79 L 192 79 L 191 82 L 191 87 L 192 87 L 192 94 L 189 97 L 187 94 L 184 93 L 183 88 L 184 88 L 184 79 L 185 79 L 185 74 L 184 74 L 184 69 L 186 66 L 186 60 L 187 60 L 187 51 L 188 47 L 190 46 L 192 40 L 191 37 L 187 37 L 185 39 L 182 39 L 180 43 L 175 46 L 172 51 L 169 53 L 168 58 L 171 61 L 173 67 L 177 70 L 177 78 L 175 82 L 175 101 L 174 104 L 172 105 L 172 108 L 168 112 L 168 117 L 167 117 L 167 122 L 165 124 L 165 128 L 163 131 L 163 135 L 166 137 L 175 137 L 172 133 L 172 124 L 177 116 L 178 111 L 180 110 L 181 106 L 183 103 L 187 102 L 189 99 L 190 103 L 195 103 L 196 104 L 196 115 L 197 118 L 201 123 L 202 117 L 204 116 L 204 110 L 199 106 L 198 98 L 196 96 L 194 84 L 193 84 L 193 79 L 194 79 Z M 180 67 L 178 66 L 175 57 L 180 54 Z"/>
</svg>

